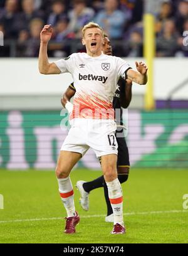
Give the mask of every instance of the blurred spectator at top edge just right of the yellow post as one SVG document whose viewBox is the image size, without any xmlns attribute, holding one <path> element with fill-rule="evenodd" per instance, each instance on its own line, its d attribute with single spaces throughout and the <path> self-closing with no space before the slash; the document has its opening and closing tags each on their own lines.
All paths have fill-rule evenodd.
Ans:
<svg viewBox="0 0 188 256">
<path fill-rule="evenodd" d="M 164 22 L 172 18 L 172 3 L 164 2 L 160 6 L 160 13 L 156 17 L 155 31 L 160 33 Z"/>
</svg>

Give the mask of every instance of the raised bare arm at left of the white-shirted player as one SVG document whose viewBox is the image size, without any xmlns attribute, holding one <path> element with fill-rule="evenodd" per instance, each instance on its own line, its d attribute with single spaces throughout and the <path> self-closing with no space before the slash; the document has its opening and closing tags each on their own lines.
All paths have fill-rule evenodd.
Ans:
<svg viewBox="0 0 188 256">
<path fill-rule="evenodd" d="M 48 55 L 47 55 L 47 47 L 48 42 L 51 39 L 51 35 L 53 33 L 53 28 L 51 25 L 44 25 L 44 28 L 41 31 L 40 38 L 40 50 L 39 50 L 39 72 L 43 75 L 50 75 L 50 74 L 60 74 L 61 71 L 55 65 L 55 63 L 49 63 Z"/>
</svg>

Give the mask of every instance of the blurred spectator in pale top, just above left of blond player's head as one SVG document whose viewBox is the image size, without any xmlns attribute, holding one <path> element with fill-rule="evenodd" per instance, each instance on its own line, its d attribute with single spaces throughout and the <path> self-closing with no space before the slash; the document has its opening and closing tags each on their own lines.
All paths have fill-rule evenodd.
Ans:
<svg viewBox="0 0 188 256">
<path fill-rule="evenodd" d="M 94 11 L 86 7 L 85 0 L 74 0 L 73 9 L 68 13 L 70 23 L 68 28 L 75 33 L 76 38 L 81 38 L 81 28 L 91 21 Z"/>
</svg>

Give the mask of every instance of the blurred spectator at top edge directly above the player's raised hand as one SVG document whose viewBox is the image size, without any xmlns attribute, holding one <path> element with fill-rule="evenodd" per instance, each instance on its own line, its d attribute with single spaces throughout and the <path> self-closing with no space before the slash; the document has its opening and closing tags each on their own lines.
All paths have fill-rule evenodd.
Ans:
<svg viewBox="0 0 188 256">
<path fill-rule="evenodd" d="M 62 0 L 55 0 L 51 6 L 52 13 L 50 13 L 47 24 L 51 24 L 51 26 L 55 26 L 58 21 L 61 19 L 66 19 L 66 6 Z"/>
</svg>

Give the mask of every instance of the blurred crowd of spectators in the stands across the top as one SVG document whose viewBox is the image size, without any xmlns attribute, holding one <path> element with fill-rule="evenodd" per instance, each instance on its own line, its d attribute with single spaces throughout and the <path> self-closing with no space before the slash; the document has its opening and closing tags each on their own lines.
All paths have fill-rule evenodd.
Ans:
<svg viewBox="0 0 188 256">
<path fill-rule="evenodd" d="M 157 0 L 154 8 L 156 55 L 188 56 L 183 31 L 188 31 L 188 0 Z M 95 21 L 110 36 L 113 55 L 143 56 L 144 0 L 1 0 L 0 56 L 36 57 L 44 24 L 54 33 L 49 56 L 84 51 L 81 28 Z"/>
</svg>

